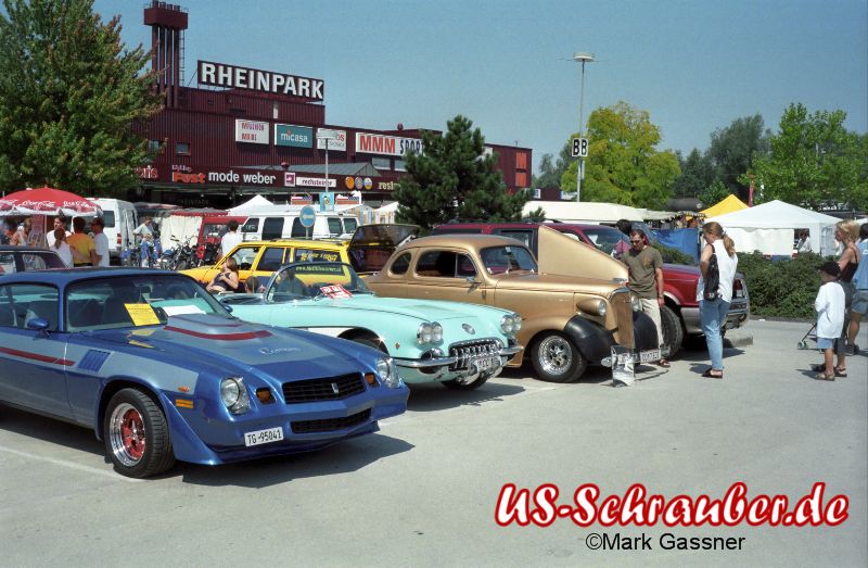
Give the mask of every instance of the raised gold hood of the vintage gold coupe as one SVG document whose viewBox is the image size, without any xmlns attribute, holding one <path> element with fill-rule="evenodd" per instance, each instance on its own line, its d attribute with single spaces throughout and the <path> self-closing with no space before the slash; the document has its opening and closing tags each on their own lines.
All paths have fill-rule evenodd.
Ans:
<svg viewBox="0 0 868 568">
<path fill-rule="evenodd" d="M 545 225 L 539 227 L 539 274 L 627 280 L 627 267 L 602 251 Z"/>
</svg>

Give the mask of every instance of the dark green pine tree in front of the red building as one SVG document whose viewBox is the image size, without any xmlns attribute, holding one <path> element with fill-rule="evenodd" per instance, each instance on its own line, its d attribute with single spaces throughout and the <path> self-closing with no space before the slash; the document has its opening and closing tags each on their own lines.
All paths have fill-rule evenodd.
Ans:
<svg viewBox="0 0 868 568">
<path fill-rule="evenodd" d="M 406 155 L 409 177 L 393 197 L 397 218 L 430 230 L 455 218 L 514 220 L 521 218 L 529 193 L 509 194 L 497 171 L 497 155 L 485 155 L 485 138 L 461 115 L 447 123 L 438 136 L 422 132 L 424 151 Z"/>
</svg>

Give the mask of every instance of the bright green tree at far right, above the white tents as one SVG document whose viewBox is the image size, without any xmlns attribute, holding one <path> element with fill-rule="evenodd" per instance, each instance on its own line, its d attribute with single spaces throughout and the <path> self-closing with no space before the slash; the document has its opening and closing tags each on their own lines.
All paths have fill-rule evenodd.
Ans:
<svg viewBox="0 0 868 568">
<path fill-rule="evenodd" d="M 779 199 L 810 209 L 841 204 L 868 207 L 868 144 L 844 128 L 844 111 L 818 111 L 790 104 L 771 137 L 770 152 L 757 154 L 739 181 L 753 178 L 755 202 Z"/>
</svg>

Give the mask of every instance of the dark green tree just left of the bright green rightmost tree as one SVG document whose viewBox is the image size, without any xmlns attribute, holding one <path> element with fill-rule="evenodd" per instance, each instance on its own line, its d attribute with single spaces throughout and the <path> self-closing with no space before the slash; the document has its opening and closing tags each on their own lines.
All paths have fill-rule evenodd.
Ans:
<svg viewBox="0 0 868 568">
<path fill-rule="evenodd" d="M 760 114 L 736 118 L 726 128 L 718 128 L 712 134 L 707 157 L 714 167 L 714 175 L 730 193 L 743 201 L 748 200 L 749 190 L 748 185 L 739 181 L 739 176 L 751 167 L 755 153 L 768 152 L 769 136 Z"/>
</svg>

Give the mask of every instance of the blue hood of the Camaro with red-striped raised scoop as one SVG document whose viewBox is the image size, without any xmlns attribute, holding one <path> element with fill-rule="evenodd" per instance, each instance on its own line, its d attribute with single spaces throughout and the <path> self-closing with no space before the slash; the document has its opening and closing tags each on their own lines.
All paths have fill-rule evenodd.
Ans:
<svg viewBox="0 0 868 568">
<path fill-rule="evenodd" d="M 329 338 L 204 314 L 169 317 L 158 328 L 100 331 L 100 339 L 152 349 L 161 359 L 193 369 L 258 369 L 276 377 L 339 375 L 360 370 L 357 349 Z"/>
</svg>

